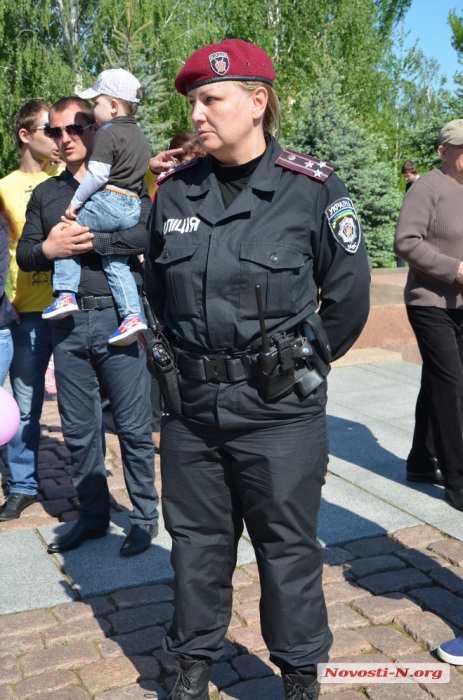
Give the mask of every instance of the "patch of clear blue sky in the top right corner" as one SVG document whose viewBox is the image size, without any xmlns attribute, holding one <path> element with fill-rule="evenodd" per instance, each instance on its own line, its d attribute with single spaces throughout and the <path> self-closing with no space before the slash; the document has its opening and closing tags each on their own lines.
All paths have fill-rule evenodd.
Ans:
<svg viewBox="0 0 463 700">
<path fill-rule="evenodd" d="M 463 0 L 413 0 L 405 17 L 405 30 L 410 30 L 407 46 L 419 39 L 424 54 L 439 62 L 442 74 L 447 77 L 448 87 L 453 86 L 455 71 L 459 68 L 463 70 L 450 44 L 452 32 L 447 17 L 453 9 L 461 16 Z"/>
</svg>

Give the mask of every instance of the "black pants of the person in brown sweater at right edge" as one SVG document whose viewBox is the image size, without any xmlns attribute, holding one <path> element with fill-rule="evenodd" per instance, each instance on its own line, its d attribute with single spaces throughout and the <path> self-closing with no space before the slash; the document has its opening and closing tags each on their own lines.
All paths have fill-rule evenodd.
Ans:
<svg viewBox="0 0 463 700">
<path fill-rule="evenodd" d="M 436 456 L 445 485 L 463 488 L 463 309 L 407 306 L 423 359 L 416 404 L 412 471 Z M 434 454 L 433 454 L 434 453 Z"/>
</svg>

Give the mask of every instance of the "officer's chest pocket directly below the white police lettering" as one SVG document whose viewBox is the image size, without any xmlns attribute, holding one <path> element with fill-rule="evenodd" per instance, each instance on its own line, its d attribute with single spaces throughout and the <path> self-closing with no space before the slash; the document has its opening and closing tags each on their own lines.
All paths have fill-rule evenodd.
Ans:
<svg viewBox="0 0 463 700">
<path fill-rule="evenodd" d="M 167 303 L 175 318 L 199 315 L 193 286 L 193 258 L 198 245 L 198 243 L 180 245 L 167 243 L 156 260 L 156 263 L 162 265 L 164 269 Z"/>
</svg>

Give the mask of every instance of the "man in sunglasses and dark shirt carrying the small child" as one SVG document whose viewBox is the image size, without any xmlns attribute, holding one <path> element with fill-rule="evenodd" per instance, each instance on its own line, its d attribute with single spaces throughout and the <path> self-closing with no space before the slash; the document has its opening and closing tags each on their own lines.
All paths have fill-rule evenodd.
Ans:
<svg viewBox="0 0 463 700">
<path fill-rule="evenodd" d="M 76 525 L 52 542 L 49 551 L 76 549 L 86 540 L 103 537 L 109 526 L 109 491 L 100 434 L 101 382 L 111 403 L 125 482 L 134 508 L 131 530 L 121 548 L 123 556 L 131 556 L 147 549 L 158 530 L 150 382 L 144 355 L 136 343 L 125 347 L 108 345 L 117 315 L 101 257 L 127 255 L 135 271 L 136 255 L 146 245 L 151 202 L 144 188 L 139 224 L 111 234 L 92 233 L 75 223 L 69 227 L 62 221 L 87 172 L 93 121 L 91 106 L 81 98 L 62 98 L 52 106 L 47 131 L 59 148 L 66 170 L 34 191 L 17 259 L 23 270 L 48 272 L 55 259 L 81 256 L 79 312 L 52 325 L 58 407 L 71 452 L 80 512 Z M 140 286 L 137 272 L 134 277 Z"/>
</svg>

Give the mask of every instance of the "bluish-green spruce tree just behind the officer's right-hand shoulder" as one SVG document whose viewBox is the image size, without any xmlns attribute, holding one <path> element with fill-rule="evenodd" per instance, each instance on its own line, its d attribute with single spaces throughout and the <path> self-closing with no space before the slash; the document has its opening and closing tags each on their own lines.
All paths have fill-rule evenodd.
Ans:
<svg viewBox="0 0 463 700">
<path fill-rule="evenodd" d="M 395 170 L 379 159 L 381 137 L 368 131 L 342 95 L 338 71 L 327 58 L 302 108 L 291 145 L 334 165 L 354 201 L 373 266 L 392 266 L 402 201 Z"/>
</svg>

